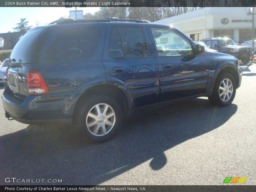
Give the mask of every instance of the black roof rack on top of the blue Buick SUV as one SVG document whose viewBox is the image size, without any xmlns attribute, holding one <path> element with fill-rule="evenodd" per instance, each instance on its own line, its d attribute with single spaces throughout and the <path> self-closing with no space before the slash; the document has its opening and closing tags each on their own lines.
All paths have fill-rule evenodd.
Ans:
<svg viewBox="0 0 256 192">
<path fill-rule="evenodd" d="M 135 22 L 135 23 L 150 23 L 150 21 L 147 20 L 131 20 L 131 19 L 118 19 L 116 17 L 113 18 L 106 18 L 106 19 L 61 19 L 61 20 L 56 20 L 51 23 L 51 24 L 57 24 L 57 25 L 62 25 L 62 24 L 71 24 L 71 23 L 91 23 L 91 22 Z"/>
</svg>

